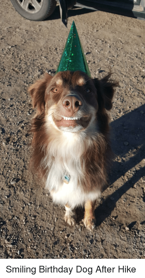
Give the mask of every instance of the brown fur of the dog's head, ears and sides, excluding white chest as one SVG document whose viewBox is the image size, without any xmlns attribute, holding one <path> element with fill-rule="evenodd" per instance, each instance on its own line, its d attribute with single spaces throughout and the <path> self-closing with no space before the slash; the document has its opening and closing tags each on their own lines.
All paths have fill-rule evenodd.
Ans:
<svg viewBox="0 0 145 278">
<path fill-rule="evenodd" d="M 101 80 L 90 79 L 84 72 L 59 72 L 54 77 L 45 74 L 44 78 L 37 81 L 35 84 L 30 86 L 29 93 L 32 97 L 33 107 L 37 108 L 35 117 L 32 119 L 33 132 L 33 154 L 31 159 L 31 165 L 33 172 L 46 183 L 48 173 L 51 169 L 53 162 L 55 162 L 55 156 L 50 155 L 50 145 L 53 143 L 55 137 L 59 137 L 59 130 L 51 130 L 51 127 L 46 128 L 47 118 L 46 114 L 51 107 L 55 105 L 55 110 L 52 110 L 52 116 L 54 117 L 55 124 L 60 121 L 61 115 L 65 117 L 75 117 L 79 113 L 81 117 L 89 115 L 89 106 L 95 109 L 95 118 L 97 122 L 98 132 L 93 134 L 93 131 L 87 133 L 86 140 L 91 140 L 91 144 L 84 149 L 80 157 L 80 163 L 82 167 L 81 180 L 78 179 L 78 186 L 81 187 L 82 192 L 92 192 L 96 188 L 100 191 L 103 190 L 104 186 L 107 185 L 107 172 L 112 158 L 112 152 L 109 144 L 109 125 L 108 125 L 108 114 L 106 110 L 112 108 L 112 98 L 114 93 L 114 87 L 118 86 L 118 82 L 110 80 L 111 73 L 106 75 Z M 57 82 L 57 80 L 61 82 Z M 79 83 L 79 79 L 81 83 Z M 84 84 L 82 80 L 84 79 Z M 79 84 L 79 85 L 78 85 Z M 57 92 L 53 91 L 53 88 L 57 88 Z M 85 88 L 91 88 L 91 93 L 86 93 Z M 72 93 L 77 94 L 76 98 L 80 98 L 80 101 L 73 100 L 75 97 L 67 97 Z M 75 101 L 77 112 L 70 112 L 68 104 Z M 69 99 L 69 101 L 68 101 Z M 66 105 L 67 104 L 67 105 Z M 78 105 L 82 104 L 78 107 Z M 70 108 L 72 109 L 73 106 Z M 84 107 L 84 108 L 83 108 Z M 75 108 L 74 110 L 75 111 Z M 70 113 L 73 113 L 70 115 Z M 88 123 L 85 122 L 84 130 Z M 73 124 L 72 124 L 73 125 Z M 75 127 L 75 124 L 74 126 Z M 59 125 L 58 125 L 59 128 Z M 81 131 L 79 131 L 81 132 Z M 88 139 L 87 139 L 88 138 Z M 86 143 L 83 143 L 87 146 Z M 84 147 L 85 148 L 85 147 Z M 47 157 L 47 165 L 43 162 L 44 158 Z M 54 173 L 55 175 L 55 173 Z M 52 189 L 53 190 L 53 189 Z M 89 226 L 88 229 L 93 229 L 93 212 L 94 202 L 87 201 L 85 205 L 85 219 L 89 218 L 87 212 L 87 204 L 91 207 L 91 220 L 85 220 L 85 225 Z M 69 204 L 68 204 L 69 207 Z M 90 210 L 90 208 L 89 208 Z M 68 217 L 67 217 L 68 218 Z M 70 216 L 71 218 L 71 216 Z M 92 224 L 87 224 L 87 221 Z M 70 223 L 71 221 L 69 221 Z"/>
</svg>

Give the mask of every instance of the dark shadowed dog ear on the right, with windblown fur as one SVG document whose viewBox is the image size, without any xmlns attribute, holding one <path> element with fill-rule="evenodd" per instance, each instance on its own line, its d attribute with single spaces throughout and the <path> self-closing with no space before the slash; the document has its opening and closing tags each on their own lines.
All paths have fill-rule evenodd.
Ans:
<svg viewBox="0 0 145 278">
<path fill-rule="evenodd" d="M 104 101 L 104 107 L 106 110 L 110 110 L 112 108 L 112 98 L 114 95 L 114 87 L 117 87 L 119 85 L 119 82 L 115 82 L 112 79 L 110 79 L 111 75 L 112 75 L 112 73 L 109 72 L 101 80 L 98 80 L 97 78 L 94 79 L 95 86 L 97 89 L 99 89 L 99 91 L 102 95 L 102 98 Z"/>
</svg>

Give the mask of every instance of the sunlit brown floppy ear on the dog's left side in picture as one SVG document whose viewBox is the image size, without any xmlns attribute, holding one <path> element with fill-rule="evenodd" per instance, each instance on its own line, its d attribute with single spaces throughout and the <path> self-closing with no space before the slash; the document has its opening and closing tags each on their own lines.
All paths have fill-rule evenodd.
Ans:
<svg viewBox="0 0 145 278">
<path fill-rule="evenodd" d="M 32 98 L 33 108 L 37 107 L 37 112 L 39 115 L 45 110 L 45 91 L 52 78 L 53 77 L 51 75 L 45 73 L 42 79 L 38 80 L 28 89 L 28 92 Z"/>
</svg>

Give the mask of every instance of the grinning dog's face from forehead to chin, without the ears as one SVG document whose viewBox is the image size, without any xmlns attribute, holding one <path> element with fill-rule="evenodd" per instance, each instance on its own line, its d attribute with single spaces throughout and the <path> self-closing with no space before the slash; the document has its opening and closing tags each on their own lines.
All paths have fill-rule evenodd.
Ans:
<svg viewBox="0 0 145 278">
<path fill-rule="evenodd" d="M 97 112 L 97 90 L 83 72 L 58 72 L 46 88 L 46 118 L 63 131 L 86 129 Z"/>
</svg>

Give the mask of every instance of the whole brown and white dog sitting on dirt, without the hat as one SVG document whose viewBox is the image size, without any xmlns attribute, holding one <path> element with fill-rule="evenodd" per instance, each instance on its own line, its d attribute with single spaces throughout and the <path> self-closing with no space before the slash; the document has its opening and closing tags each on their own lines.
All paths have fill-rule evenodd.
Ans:
<svg viewBox="0 0 145 278">
<path fill-rule="evenodd" d="M 54 202 L 75 224 L 75 208 L 85 206 L 84 224 L 95 227 L 95 201 L 107 185 L 112 152 L 108 115 L 117 82 L 81 71 L 45 74 L 29 88 L 33 107 L 32 167 Z M 65 182 L 66 178 L 66 182 Z"/>
</svg>

